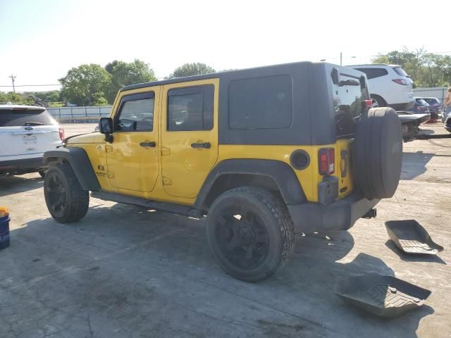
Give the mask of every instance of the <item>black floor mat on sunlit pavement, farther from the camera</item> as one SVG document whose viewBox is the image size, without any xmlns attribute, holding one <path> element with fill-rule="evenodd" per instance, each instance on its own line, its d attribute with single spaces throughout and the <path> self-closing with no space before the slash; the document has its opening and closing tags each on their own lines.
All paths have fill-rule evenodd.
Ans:
<svg viewBox="0 0 451 338">
<path fill-rule="evenodd" d="M 405 253 L 435 255 L 443 250 L 416 220 L 390 220 L 385 227 L 393 243 Z"/>
</svg>

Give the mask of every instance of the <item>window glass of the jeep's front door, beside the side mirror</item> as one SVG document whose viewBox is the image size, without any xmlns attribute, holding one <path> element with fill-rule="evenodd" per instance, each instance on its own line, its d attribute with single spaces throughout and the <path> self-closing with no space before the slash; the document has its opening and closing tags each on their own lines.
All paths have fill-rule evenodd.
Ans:
<svg viewBox="0 0 451 338">
<path fill-rule="evenodd" d="M 124 96 L 116 119 L 116 131 L 152 132 L 154 92 Z"/>
</svg>

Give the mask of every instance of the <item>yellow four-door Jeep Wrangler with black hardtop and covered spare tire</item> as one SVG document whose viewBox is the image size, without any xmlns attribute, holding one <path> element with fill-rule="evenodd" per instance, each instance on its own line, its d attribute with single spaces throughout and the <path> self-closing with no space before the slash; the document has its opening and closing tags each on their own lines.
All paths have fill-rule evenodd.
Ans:
<svg viewBox="0 0 451 338">
<path fill-rule="evenodd" d="M 400 120 L 371 108 L 364 73 L 290 63 L 123 87 L 99 132 L 44 154 L 55 220 L 99 199 L 203 219 L 230 275 L 259 281 L 295 233 L 374 217 L 400 180 Z"/>
</svg>

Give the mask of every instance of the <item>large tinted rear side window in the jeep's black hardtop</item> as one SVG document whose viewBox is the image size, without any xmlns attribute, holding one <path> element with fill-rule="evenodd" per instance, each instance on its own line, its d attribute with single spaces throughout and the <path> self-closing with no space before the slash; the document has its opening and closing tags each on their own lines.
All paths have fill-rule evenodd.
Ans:
<svg viewBox="0 0 451 338">
<path fill-rule="evenodd" d="M 292 81 L 288 75 L 230 82 L 231 129 L 288 128 L 292 122 Z"/>
</svg>

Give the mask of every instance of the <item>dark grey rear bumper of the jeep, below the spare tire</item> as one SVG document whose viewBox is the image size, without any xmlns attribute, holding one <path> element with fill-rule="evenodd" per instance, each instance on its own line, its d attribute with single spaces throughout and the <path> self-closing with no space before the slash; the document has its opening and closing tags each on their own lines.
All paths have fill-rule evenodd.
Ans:
<svg viewBox="0 0 451 338">
<path fill-rule="evenodd" d="M 297 232 L 324 232 L 348 230 L 363 215 L 368 213 L 379 199 L 366 199 L 358 193 L 328 205 L 305 203 L 288 205 L 288 211 Z"/>
</svg>

